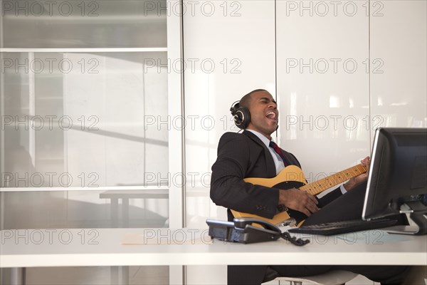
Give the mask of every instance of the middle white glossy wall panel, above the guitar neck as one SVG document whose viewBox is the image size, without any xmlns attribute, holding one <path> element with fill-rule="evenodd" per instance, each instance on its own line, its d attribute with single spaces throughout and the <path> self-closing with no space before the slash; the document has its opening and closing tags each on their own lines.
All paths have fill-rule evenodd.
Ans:
<svg viewBox="0 0 427 285">
<path fill-rule="evenodd" d="M 277 1 L 280 145 L 307 180 L 369 155 L 365 1 Z"/>
</svg>

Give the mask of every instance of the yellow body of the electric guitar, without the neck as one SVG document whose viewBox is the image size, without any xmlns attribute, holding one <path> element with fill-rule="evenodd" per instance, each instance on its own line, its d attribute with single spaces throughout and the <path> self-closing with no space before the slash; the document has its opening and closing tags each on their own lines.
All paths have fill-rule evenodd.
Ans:
<svg viewBox="0 0 427 285">
<path fill-rule="evenodd" d="M 250 182 L 254 185 L 263 185 L 265 187 L 273 187 L 283 190 L 288 190 L 292 188 L 299 189 L 300 187 L 306 185 L 305 176 L 300 167 L 295 165 L 289 165 L 285 167 L 276 177 L 273 178 L 246 178 L 245 182 Z M 256 214 L 248 214 L 243 212 L 237 212 L 231 209 L 234 217 L 255 217 L 258 219 L 263 219 L 267 222 L 270 222 L 275 225 L 300 225 L 307 216 L 299 211 L 293 209 L 287 209 L 284 212 L 276 214 L 273 219 L 268 219 L 265 217 L 260 217 Z"/>
</svg>

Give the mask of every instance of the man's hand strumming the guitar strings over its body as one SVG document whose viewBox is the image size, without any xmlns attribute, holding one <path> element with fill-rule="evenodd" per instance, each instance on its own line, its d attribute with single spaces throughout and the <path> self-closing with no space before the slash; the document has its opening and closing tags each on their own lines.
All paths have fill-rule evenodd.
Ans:
<svg viewBox="0 0 427 285">
<path fill-rule="evenodd" d="M 319 210 L 317 208 L 317 199 L 305 191 L 293 188 L 280 190 L 279 193 L 279 204 L 284 204 L 290 209 L 303 212 L 307 217 Z"/>
</svg>

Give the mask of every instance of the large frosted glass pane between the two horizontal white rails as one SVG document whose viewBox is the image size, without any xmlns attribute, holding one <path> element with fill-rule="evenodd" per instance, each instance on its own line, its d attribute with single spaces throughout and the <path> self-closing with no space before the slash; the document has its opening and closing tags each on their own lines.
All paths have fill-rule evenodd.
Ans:
<svg viewBox="0 0 427 285">
<path fill-rule="evenodd" d="M 21 66 L 4 72 L 1 186 L 157 186 L 168 130 L 146 123 L 167 118 L 166 56 L 2 54 Z"/>
</svg>

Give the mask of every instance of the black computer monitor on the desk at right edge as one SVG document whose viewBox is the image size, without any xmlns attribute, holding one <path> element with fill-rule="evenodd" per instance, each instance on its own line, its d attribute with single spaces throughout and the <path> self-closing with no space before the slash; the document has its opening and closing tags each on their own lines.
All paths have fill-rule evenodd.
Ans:
<svg viewBox="0 0 427 285">
<path fill-rule="evenodd" d="M 411 213 L 427 233 L 427 128 L 379 128 L 371 153 L 362 219 Z"/>
</svg>

